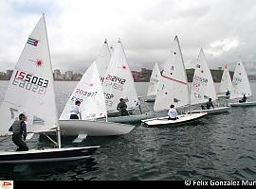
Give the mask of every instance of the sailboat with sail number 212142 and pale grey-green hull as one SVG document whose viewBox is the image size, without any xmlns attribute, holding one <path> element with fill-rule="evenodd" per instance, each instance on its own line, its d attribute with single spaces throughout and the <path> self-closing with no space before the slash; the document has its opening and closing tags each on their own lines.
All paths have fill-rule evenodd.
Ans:
<svg viewBox="0 0 256 189">
<path fill-rule="evenodd" d="M 104 81 L 102 83 L 105 95 L 105 104 L 109 122 L 116 123 L 137 123 L 141 119 L 148 119 L 155 116 L 155 112 L 132 114 L 136 107 L 139 107 L 139 100 L 135 88 L 134 78 L 130 71 L 127 59 L 119 40 L 111 56 Z M 127 104 L 127 111 L 130 115 L 117 116 L 119 98 L 123 98 Z M 99 120 L 102 120 L 100 118 Z"/>
</svg>

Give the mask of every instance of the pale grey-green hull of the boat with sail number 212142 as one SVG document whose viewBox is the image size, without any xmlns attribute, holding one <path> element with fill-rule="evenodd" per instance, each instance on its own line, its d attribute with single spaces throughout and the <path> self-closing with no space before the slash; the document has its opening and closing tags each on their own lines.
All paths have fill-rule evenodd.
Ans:
<svg viewBox="0 0 256 189">
<path fill-rule="evenodd" d="M 150 119 L 150 118 L 153 118 L 155 116 L 156 116 L 156 112 L 152 112 L 152 113 L 142 113 L 142 114 L 137 114 L 137 115 L 108 117 L 107 120 L 109 122 L 131 124 L 131 123 L 140 123 L 140 121 L 142 119 Z M 100 120 L 102 120 L 102 119 L 100 119 Z"/>
</svg>

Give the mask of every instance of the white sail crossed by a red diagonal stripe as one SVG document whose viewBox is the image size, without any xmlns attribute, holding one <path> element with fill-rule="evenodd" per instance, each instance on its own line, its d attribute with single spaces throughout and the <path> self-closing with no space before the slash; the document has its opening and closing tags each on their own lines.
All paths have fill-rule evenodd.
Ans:
<svg viewBox="0 0 256 189">
<path fill-rule="evenodd" d="M 165 61 L 155 98 L 154 111 L 175 108 L 189 104 L 188 79 L 178 38 L 174 38 L 174 47 Z"/>
</svg>

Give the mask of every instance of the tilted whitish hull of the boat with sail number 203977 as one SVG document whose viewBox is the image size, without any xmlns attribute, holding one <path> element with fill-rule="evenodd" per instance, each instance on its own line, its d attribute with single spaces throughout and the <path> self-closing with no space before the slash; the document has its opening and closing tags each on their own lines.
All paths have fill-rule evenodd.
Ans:
<svg viewBox="0 0 256 189">
<path fill-rule="evenodd" d="M 59 120 L 60 128 L 64 136 L 76 136 L 86 134 L 87 136 L 111 136 L 128 134 L 135 126 L 88 120 Z"/>
</svg>

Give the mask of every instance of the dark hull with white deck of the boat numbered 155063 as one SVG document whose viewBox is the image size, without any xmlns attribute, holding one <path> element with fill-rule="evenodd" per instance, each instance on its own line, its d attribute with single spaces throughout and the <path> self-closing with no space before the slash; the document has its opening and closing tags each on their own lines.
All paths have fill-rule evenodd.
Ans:
<svg viewBox="0 0 256 189">
<path fill-rule="evenodd" d="M 100 146 L 52 148 L 0 152 L 0 163 L 60 162 L 89 158 Z"/>
</svg>

